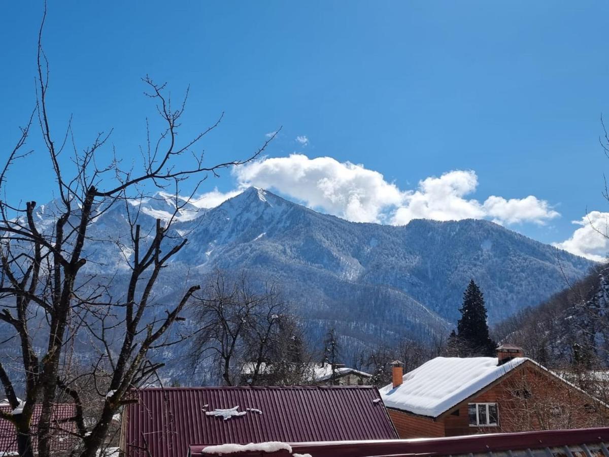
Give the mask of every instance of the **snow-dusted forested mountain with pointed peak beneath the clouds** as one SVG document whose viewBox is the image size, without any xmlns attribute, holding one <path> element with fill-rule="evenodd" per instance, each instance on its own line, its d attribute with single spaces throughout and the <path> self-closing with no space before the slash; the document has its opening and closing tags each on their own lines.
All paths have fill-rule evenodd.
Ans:
<svg viewBox="0 0 609 457">
<path fill-rule="evenodd" d="M 138 221 L 149 228 L 175 207 L 164 194 L 128 204 L 141 205 Z M 88 268 L 125 266 L 132 255 L 126 211 L 116 205 L 93 224 L 93 238 L 108 241 L 90 245 Z M 163 294 L 217 267 L 245 269 L 278 283 L 314 328 L 336 325 L 357 341 L 445 331 L 459 316 L 471 278 L 485 294 L 490 322 L 497 322 L 547 299 L 592 265 L 493 222 L 348 222 L 257 188 L 210 210 L 186 205 L 172 227 L 188 244 L 161 279 Z M 110 241 L 117 236 L 121 243 Z"/>
</svg>

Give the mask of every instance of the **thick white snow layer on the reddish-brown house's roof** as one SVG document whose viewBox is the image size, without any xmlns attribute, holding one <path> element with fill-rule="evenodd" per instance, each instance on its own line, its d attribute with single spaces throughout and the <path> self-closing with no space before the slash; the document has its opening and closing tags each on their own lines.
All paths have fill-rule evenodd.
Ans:
<svg viewBox="0 0 609 457">
<path fill-rule="evenodd" d="M 379 392 L 388 408 L 438 417 L 526 360 L 518 357 L 498 366 L 495 357 L 436 357 L 405 374 L 400 386 L 388 384 Z"/>
</svg>

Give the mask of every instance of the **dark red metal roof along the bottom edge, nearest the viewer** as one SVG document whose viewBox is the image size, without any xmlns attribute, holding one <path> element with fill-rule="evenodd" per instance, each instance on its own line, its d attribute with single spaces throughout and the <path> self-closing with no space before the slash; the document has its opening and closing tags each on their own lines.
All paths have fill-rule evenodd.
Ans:
<svg viewBox="0 0 609 457">
<path fill-rule="evenodd" d="M 412 457 L 412 456 L 608 456 L 609 428 L 477 434 L 450 438 L 386 441 L 292 443 L 292 453 L 312 457 Z M 193 445 L 189 456 L 203 457 L 203 446 Z M 566 452 L 568 448 L 569 452 Z M 236 457 L 287 457 L 287 451 L 239 452 Z"/>
</svg>

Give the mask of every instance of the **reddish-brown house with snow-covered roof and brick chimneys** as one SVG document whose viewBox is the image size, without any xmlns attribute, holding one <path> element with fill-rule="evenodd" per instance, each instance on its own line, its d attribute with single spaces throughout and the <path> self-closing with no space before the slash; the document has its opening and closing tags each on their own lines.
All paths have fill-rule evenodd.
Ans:
<svg viewBox="0 0 609 457">
<path fill-rule="evenodd" d="M 437 357 L 380 389 L 400 438 L 584 428 L 607 423 L 605 403 L 502 345 L 493 357 Z"/>
</svg>

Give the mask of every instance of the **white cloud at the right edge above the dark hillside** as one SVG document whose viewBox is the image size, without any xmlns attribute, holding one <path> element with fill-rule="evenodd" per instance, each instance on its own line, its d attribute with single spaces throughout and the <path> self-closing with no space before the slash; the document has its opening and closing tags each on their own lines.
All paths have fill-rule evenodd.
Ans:
<svg viewBox="0 0 609 457">
<path fill-rule="evenodd" d="M 552 245 L 590 260 L 606 261 L 609 253 L 609 213 L 591 211 L 581 221 L 573 221 L 573 224 L 581 227 L 573 232 L 571 238 Z"/>
</svg>

